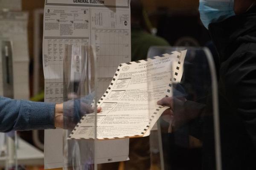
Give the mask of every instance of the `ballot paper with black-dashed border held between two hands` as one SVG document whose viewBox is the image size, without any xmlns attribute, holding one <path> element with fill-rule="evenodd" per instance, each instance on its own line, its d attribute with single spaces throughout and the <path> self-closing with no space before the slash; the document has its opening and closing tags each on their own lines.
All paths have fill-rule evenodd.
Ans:
<svg viewBox="0 0 256 170">
<path fill-rule="evenodd" d="M 180 82 L 186 50 L 119 65 L 111 84 L 98 102 L 102 112 L 88 114 L 70 134 L 70 139 L 116 139 L 143 137 L 150 133 L 169 107 L 157 101 L 172 96 L 172 82 Z"/>
</svg>

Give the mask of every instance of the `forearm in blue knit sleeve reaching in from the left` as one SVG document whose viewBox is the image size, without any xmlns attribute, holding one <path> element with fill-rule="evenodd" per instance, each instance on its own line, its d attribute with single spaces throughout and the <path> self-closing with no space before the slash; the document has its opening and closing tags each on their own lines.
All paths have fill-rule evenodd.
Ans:
<svg viewBox="0 0 256 170">
<path fill-rule="evenodd" d="M 0 96 L 0 132 L 54 129 L 55 104 Z"/>
</svg>

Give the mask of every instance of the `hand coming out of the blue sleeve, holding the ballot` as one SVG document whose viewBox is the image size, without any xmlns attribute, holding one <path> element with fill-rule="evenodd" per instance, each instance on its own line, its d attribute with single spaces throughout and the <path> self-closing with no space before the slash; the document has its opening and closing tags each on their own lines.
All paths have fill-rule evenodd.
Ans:
<svg viewBox="0 0 256 170">
<path fill-rule="evenodd" d="M 70 101 L 69 101 L 70 102 Z M 66 104 L 70 104 L 69 105 L 69 109 L 71 109 L 71 108 L 73 108 L 74 109 L 74 105 L 72 105 L 71 104 L 71 102 L 70 103 L 65 103 L 65 106 L 66 106 Z M 64 117 L 65 117 L 65 115 L 64 115 L 64 107 L 63 107 L 63 103 L 62 104 L 56 104 L 55 105 L 55 121 L 54 121 L 54 123 L 55 123 L 55 127 L 56 128 L 64 128 Z M 72 106 L 71 106 L 72 105 Z M 81 112 L 80 113 L 76 113 L 76 116 L 79 116 L 79 118 L 82 116 L 82 115 L 84 115 L 84 114 L 87 114 L 87 113 L 92 113 L 92 112 L 94 112 L 94 108 L 93 107 L 90 107 L 89 105 L 87 105 L 87 104 L 84 104 L 84 103 L 82 103 L 81 104 L 82 106 L 81 106 L 81 110 L 83 110 L 83 111 L 81 111 L 83 114 L 81 114 Z M 101 112 L 101 110 L 102 110 L 102 108 L 101 107 L 97 107 L 97 112 Z M 73 115 L 74 116 L 74 115 Z M 76 117 L 75 116 L 75 117 Z M 72 116 L 71 116 L 72 117 Z M 72 120 L 74 120 L 74 119 L 72 119 Z M 80 120 L 80 119 L 79 119 Z M 79 121 L 78 120 L 78 121 Z M 67 122 L 65 122 L 65 123 L 67 123 Z M 77 123 L 77 121 L 75 121 L 75 122 L 72 122 L 73 124 L 75 124 L 76 125 L 76 123 Z"/>
</svg>

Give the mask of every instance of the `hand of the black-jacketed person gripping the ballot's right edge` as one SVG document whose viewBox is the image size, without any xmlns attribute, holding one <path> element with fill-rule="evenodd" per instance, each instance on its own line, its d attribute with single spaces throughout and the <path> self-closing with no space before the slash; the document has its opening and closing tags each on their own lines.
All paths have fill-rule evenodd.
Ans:
<svg viewBox="0 0 256 170">
<path fill-rule="evenodd" d="M 168 97 L 157 101 L 157 104 L 159 105 L 170 107 L 169 109 L 166 109 L 162 114 L 163 120 L 169 123 L 169 133 L 177 130 L 187 122 L 184 108 L 185 102 L 186 98 L 184 98 L 183 96 Z"/>
</svg>

